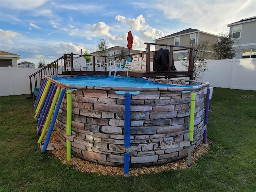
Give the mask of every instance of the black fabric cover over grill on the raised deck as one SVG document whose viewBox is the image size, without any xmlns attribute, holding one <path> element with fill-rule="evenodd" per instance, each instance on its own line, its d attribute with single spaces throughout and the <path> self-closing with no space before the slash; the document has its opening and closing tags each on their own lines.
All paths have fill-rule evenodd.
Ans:
<svg viewBox="0 0 256 192">
<path fill-rule="evenodd" d="M 169 50 L 168 49 L 159 49 L 154 56 L 154 71 L 168 71 L 169 63 Z M 174 60 L 172 57 L 172 71 L 177 71 L 174 66 Z"/>
</svg>

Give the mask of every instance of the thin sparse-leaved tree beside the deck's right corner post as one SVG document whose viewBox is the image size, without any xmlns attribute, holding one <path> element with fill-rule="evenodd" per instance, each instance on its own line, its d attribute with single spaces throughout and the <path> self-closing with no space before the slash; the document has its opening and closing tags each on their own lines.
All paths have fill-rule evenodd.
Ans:
<svg viewBox="0 0 256 192">
<path fill-rule="evenodd" d="M 208 72 L 207 61 L 209 58 L 210 50 L 209 50 L 209 41 L 201 41 L 196 45 L 193 45 L 195 48 L 194 52 L 194 66 L 193 66 L 193 79 L 201 80 L 204 73 Z M 189 58 L 189 51 L 184 53 L 184 55 Z M 188 60 L 182 61 L 182 66 L 188 68 Z"/>
</svg>

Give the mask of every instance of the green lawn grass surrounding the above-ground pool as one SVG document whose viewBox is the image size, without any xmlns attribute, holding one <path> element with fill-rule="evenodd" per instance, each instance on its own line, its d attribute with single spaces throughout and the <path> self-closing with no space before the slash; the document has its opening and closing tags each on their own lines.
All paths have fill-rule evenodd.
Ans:
<svg viewBox="0 0 256 192">
<path fill-rule="evenodd" d="M 51 152 L 42 153 L 34 101 L 25 95 L 1 97 L 0 192 L 255 192 L 255 95 L 214 88 L 207 127 L 210 151 L 186 170 L 132 177 L 82 173 Z"/>
</svg>

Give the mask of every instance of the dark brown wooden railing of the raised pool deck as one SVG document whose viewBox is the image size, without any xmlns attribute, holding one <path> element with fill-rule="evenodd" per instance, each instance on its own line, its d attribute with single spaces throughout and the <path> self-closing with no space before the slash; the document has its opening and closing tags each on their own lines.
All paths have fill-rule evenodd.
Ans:
<svg viewBox="0 0 256 192">
<path fill-rule="evenodd" d="M 174 45 L 168 45 L 168 44 L 156 44 L 156 43 L 144 43 L 146 44 L 146 50 L 143 52 L 138 53 L 140 57 L 142 57 L 142 54 L 146 54 L 146 72 L 143 72 L 144 75 L 143 77 L 165 77 L 165 78 L 170 78 L 172 75 L 172 61 L 173 61 L 173 52 L 176 51 L 181 51 L 181 50 L 188 50 L 189 52 L 189 59 L 188 59 L 188 71 L 187 72 L 177 72 L 176 77 L 189 77 L 191 80 L 193 79 L 193 68 L 194 68 L 194 48 L 193 47 L 186 47 L 186 46 L 174 46 Z M 158 73 L 151 73 L 150 72 L 150 59 L 153 58 L 153 66 L 154 66 L 154 55 L 156 54 L 157 51 L 151 51 L 151 46 L 159 46 L 163 48 L 169 48 L 170 54 L 169 54 L 169 64 L 168 64 L 168 71 L 167 72 L 158 72 Z M 175 48 L 175 50 L 174 50 Z M 125 55 L 125 56 L 120 56 L 120 57 L 114 57 L 114 56 L 104 56 L 104 62 L 106 63 L 107 59 L 115 60 L 116 58 L 119 58 L 120 60 L 122 58 L 127 58 L 128 56 L 134 56 L 137 54 L 130 54 L 130 55 Z M 93 72 L 86 72 L 86 71 L 72 71 L 72 70 L 67 70 L 67 65 L 66 65 L 66 60 L 69 59 L 71 61 L 71 68 L 73 68 L 73 58 L 74 57 L 81 57 L 81 56 L 90 56 L 92 58 L 92 63 L 93 63 Z M 150 57 L 151 56 L 151 57 Z M 32 81 L 34 81 L 35 87 L 40 87 L 42 83 L 42 79 L 45 75 L 70 75 L 70 74 L 96 74 L 95 71 L 95 64 L 96 64 L 96 59 L 98 59 L 99 56 L 94 56 L 94 55 L 82 55 L 82 54 L 64 54 L 62 57 L 58 58 L 51 64 L 45 66 L 38 72 L 30 75 L 28 78 L 30 79 L 30 93 L 31 95 L 33 94 L 32 90 Z M 60 70 L 61 69 L 61 70 Z M 154 71 L 154 67 L 153 67 Z M 101 74 L 100 72 L 97 72 L 98 74 Z M 121 73 L 120 73 L 121 74 Z M 122 74 L 121 74 L 122 75 Z M 130 73 L 130 76 L 132 76 L 133 73 Z M 138 75 L 134 73 L 134 75 Z"/>
</svg>

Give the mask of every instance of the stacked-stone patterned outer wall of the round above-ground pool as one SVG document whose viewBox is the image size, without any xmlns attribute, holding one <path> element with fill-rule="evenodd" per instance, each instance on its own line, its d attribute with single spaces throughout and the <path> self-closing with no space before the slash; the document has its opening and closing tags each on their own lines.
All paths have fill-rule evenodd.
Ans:
<svg viewBox="0 0 256 192">
<path fill-rule="evenodd" d="M 185 84 L 184 80 L 149 80 Z M 191 94 L 176 88 L 143 88 L 140 94 L 131 95 L 129 148 L 124 147 L 124 95 L 110 88 L 87 86 L 72 91 L 72 135 L 68 137 L 65 96 L 55 128 L 65 146 L 71 140 L 72 154 L 91 162 L 123 166 L 124 152 L 130 153 L 129 166 L 176 161 L 188 155 L 188 146 L 194 150 L 203 138 L 204 88 L 195 91 L 193 142 L 189 141 Z"/>
</svg>

